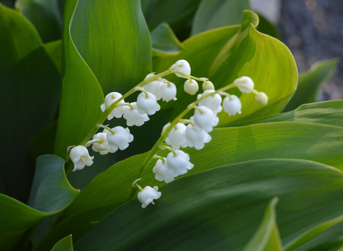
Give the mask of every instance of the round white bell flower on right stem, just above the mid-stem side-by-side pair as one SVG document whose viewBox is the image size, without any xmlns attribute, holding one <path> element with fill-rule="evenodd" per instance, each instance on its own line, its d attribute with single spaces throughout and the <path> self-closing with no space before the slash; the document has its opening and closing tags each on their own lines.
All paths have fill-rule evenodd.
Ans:
<svg viewBox="0 0 343 251">
<path fill-rule="evenodd" d="M 206 106 L 199 106 L 202 113 L 196 109 L 194 110 L 194 115 L 190 117 L 194 125 L 194 129 L 197 131 L 204 130 L 205 132 L 211 132 L 213 127 L 218 125 L 219 118 L 213 113 L 212 109 Z"/>
</svg>

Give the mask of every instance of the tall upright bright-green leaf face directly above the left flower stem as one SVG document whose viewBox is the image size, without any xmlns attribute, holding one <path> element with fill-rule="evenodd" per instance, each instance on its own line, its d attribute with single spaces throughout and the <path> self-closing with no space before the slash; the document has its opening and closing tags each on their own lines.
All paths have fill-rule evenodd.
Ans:
<svg viewBox="0 0 343 251">
<path fill-rule="evenodd" d="M 70 34 L 104 94 L 124 94 L 152 72 L 140 0 L 78 0 Z M 99 108 L 98 108 L 99 109 Z"/>
</svg>

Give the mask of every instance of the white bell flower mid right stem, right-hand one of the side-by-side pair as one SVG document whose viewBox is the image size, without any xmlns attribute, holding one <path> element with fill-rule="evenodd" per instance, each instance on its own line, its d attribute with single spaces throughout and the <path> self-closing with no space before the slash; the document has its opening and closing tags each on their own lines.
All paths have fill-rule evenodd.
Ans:
<svg viewBox="0 0 343 251">
<path fill-rule="evenodd" d="M 197 150 L 204 148 L 205 143 L 209 143 L 212 139 L 210 134 L 206 133 L 204 130 L 195 130 L 192 124 L 187 125 L 185 138 L 186 144 L 189 147 L 196 148 Z"/>
</svg>

